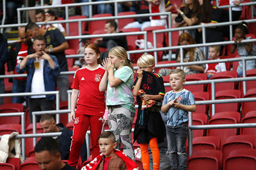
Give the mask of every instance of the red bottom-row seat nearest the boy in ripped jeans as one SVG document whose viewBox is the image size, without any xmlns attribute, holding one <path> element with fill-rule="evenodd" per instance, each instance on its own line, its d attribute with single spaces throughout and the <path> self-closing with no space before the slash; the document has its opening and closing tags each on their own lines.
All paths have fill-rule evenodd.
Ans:
<svg viewBox="0 0 256 170">
<path fill-rule="evenodd" d="M 220 150 L 200 150 L 188 159 L 189 170 L 220 170 L 222 153 Z"/>
</svg>

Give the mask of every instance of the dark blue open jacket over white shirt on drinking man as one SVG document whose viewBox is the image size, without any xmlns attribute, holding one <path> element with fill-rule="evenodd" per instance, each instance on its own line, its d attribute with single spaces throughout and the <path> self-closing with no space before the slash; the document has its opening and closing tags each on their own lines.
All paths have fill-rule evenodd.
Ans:
<svg viewBox="0 0 256 170">
<path fill-rule="evenodd" d="M 54 78 L 58 75 L 60 75 L 60 67 L 58 64 L 58 60 L 54 55 L 50 55 L 52 60 L 54 60 L 54 69 L 51 68 L 49 65 L 49 62 L 47 60 L 44 60 L 44 87 L 45 92 L 49 91 L 55 91 L 56 90 L 56 83 Z M 17 73 L 24 73 L 27 71 L 27 84 L 26 84 L 26 92 L 31 92 L 31 83 L 33 79 L 33 75 L 35 73 L 35 67 L 34 67 L 34 59 L 28 59 L 28 62 L 26 64 L 26 67 L 24 69 L 20 69 L 20 64 L 16 66 Z M 55 95 L 47 95 L 47 100 L 53 100 Z"/>
</svg>

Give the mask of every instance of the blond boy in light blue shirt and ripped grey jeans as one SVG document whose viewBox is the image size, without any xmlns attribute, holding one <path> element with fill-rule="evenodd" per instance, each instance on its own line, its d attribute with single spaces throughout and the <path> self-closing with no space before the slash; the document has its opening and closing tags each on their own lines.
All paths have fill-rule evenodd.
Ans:
<svg viewBox="0 0 256 170">
<path fill-rule="evenodd" d="M 161 111 L 167 113 L 166 139 L 171 169 L 188 169 L 186 140 L 188 138 L 188 112 L 196 111 L 195 97 L 183 88 L 185 73 L 182 69 L 170 71 L 173 90 L 164 95 Z"/>
</svg>

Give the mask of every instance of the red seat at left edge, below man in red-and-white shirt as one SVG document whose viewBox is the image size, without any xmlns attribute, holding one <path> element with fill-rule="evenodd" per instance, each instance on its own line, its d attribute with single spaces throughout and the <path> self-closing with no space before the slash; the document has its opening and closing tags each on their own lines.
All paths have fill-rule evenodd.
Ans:
<svg viewBox="0 0 256 170">
<path fill-rule="evenodd" d="M 0 106 L 1 113 L 23 112 L 23 105 L 20 103 L 8 103 Z M 20 116 L 16 117 L 0 117 L 0 124 L 20 124 Z"/>
</svg>

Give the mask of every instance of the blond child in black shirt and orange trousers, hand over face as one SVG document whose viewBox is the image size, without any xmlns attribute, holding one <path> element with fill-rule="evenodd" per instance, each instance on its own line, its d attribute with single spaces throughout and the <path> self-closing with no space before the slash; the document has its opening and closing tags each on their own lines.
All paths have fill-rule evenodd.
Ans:
<svg viewBox="0 0 256 170">
<path fill-rule="evenodd" d="M 141 55 L 137 65 L 139 67 L 138 77 L 134 81 L 132 90 L 139 105 L 134 127 L 134 141 L 140 143 L 143 169 L 150 169 L 148 146 L 152 152 L 153 169 L 159 169 L 158 143 L 163 143 L 164 136 L 166 136 L 164 122 L 159 113 L 165 92 L 164 81 L 159 74 L 153 73 L 155 58 L 152 55 Z"/>
</svg>

